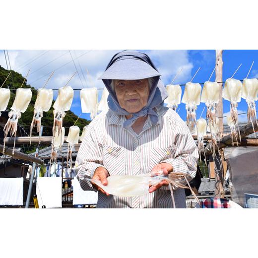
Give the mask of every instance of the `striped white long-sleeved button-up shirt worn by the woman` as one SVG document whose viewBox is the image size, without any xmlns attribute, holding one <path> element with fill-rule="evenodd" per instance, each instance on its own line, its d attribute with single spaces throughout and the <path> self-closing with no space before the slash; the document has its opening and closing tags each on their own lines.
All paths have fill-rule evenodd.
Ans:
<svg viewBox="0 0 258 258">
<path fill-rule="evenodd" d="M 91 178 L 97 167 L 104 166 L 112 175 L 139 175 L 152 171 L 161 162 L 170 163 L 174 172 L 194 178 L 198 151 L 190 130 L 172 109 L 155 108 L 159 121 L 148 117 L 137 134 L 123 128 L 125 116 L 102 112 L 90 124 L 75 161 L 75 173 L 83 190 L 93 190 Z M 184 189 L 174 191 L 177 208 L 186 207 Z M 169 187 L 135 197 L 106 196 L 98 192 L 97 208 L 172 208 Z"/>
</svg>

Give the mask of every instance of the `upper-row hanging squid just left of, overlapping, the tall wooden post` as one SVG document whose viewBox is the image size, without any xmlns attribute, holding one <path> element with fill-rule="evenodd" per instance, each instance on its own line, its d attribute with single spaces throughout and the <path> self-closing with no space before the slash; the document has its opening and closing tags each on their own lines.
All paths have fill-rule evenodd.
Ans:
<svg viewBox="0 0 258 258">
<path fill-rule="evenodd" d="M 216 123 L 216 105 L 219 103 L 220 86 L 217 82 L 205 81 L 201 93 L 200 102 L 207 107 L 206 118 L 212 126 Z"/>
</svg>

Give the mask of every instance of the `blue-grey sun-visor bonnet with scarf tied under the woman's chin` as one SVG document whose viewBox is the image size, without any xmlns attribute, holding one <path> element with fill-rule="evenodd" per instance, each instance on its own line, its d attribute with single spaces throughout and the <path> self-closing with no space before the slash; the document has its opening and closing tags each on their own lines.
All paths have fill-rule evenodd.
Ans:
<svg viewBox="0 0 258 258">
<path fill-rule="evenodd" d="M 158 115 L 153 108 L 163 103 L 168 97 L 167 90 L 160 80 L 160 73 L 150 58 L 137 51 L 122 51 L 116 54 L 109 62 L 105 72 L 99 79 L 102 79 L 109 91 L 108 106 L 111 111 L 118 115 L 132 115 L 125 121 L 123 127 L 130 127 L 139 117 L 149 116 L 151 123 L 156 125 Z M 150 85 L 150 93 L 147 105 L 137 113 L 129 113 L 121 108 L 116 93 L 112 90 L 112 80 L 139 80 L 153 77 L 153 84 Z"/>
</svg>

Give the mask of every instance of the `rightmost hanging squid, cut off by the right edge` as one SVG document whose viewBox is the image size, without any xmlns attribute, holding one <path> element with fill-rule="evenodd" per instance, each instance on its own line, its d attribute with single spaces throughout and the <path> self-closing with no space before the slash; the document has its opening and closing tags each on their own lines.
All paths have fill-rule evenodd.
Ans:
<svg viewBox="0 0 258 258">
<path fill-rule="evenodd" d="M 247 118 L 248 122 L 252 123 L 254 129 L 254 123 L 257 124 L 255 101 L 258 100 L 258 79 L 244 79 L 242 88 L 242 98 L 245 99 L 248 104 Z"/>
</svg>

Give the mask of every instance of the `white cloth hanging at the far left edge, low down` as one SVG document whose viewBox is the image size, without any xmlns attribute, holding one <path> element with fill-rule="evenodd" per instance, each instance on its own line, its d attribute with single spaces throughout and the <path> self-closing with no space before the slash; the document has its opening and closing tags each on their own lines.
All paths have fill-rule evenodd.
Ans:
<svg viewBox="0 0 258 258">
<path fill-rule="evenodd" d="M 0 205 L 23 205 L 23 178 L 0 178 Z"/>
</svg>

